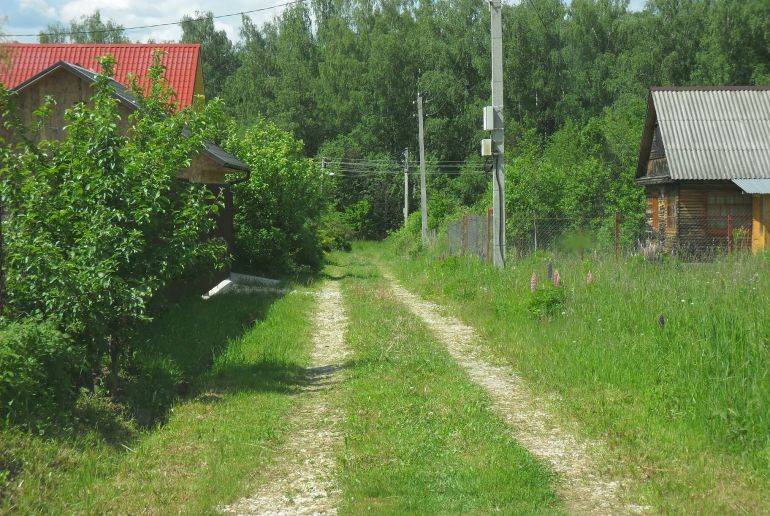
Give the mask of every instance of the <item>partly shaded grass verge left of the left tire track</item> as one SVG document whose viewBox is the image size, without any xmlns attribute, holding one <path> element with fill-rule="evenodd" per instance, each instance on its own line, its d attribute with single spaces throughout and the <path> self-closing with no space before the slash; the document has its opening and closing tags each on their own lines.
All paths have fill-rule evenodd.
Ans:
<svg viewBox="0 0 770 516">
<path fill-rule="evenodd" d="M 208 513 L 250 494 L 281 442 L 313 305 L 302 293 L 229 296 L 160 318 L 144 333 L 147 349 L 196 377 L 194 395 L 165 425 L 119 442 L 98 429 L 60 438 L 3 430 L 0 463 L 12 474 L 0 512 Z"/>
</svg>

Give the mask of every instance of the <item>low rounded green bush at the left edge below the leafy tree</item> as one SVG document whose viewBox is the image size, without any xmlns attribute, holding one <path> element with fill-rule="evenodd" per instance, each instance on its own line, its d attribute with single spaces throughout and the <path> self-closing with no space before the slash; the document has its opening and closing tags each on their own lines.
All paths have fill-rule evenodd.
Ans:
<svg viewBox="0 0 770 516">
<path fill-rule="evenodd" d="M 0 415 L 44 430 L 74 404 L 85 357 L 53 324 L 12 322 L 0 329 Z"/>
</svg>

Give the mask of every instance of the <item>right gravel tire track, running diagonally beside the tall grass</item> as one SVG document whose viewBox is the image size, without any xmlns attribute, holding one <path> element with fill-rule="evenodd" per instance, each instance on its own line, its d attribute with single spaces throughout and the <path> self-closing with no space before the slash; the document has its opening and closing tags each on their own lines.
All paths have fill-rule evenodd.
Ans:
<svg viewBox="0 0 770 516">
<path fill-rule="evenodd" d="M 574 514 L 643 513 L 646 506 L 624 503 L 625 479 L 606 478 L 598 472 L 602 444 L 578 439 L 561 428 L 546 408 L 510 367 L 489 363 L 480 356 L 479 337 L 455 317 L 443 315 L 439 305 L 424 301 L 383 271 L 395 296 L 439 337 L 468 376 L 491 395 L 495 412 L 513 429 L 513 436 L 532 455 L 547 463 L 564 482 L 560 494 Z"/>
</svg>

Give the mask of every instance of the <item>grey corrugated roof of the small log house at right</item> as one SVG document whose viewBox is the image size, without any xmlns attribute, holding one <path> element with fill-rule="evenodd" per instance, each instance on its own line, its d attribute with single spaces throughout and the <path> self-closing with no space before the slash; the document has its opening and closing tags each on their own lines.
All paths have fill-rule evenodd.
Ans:
<svg viewBox="0 0 770 516">
<path fill-rule="evenodd" d="M 770 88 L 651 91 L 671 179 L 770 179 Z"/>
</svg>

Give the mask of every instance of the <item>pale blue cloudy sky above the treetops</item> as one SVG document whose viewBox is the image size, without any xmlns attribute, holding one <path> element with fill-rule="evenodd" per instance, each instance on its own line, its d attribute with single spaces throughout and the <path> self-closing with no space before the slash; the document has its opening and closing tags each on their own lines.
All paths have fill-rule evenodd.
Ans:
<svg viewBox="0 0 770 516">
<path fill-rule="evenodd" d="M 195 11 L 211 11 L 215 15 L 237 13 L 271 7 L 288 0 L 0 0 L 0 19 L 5 19 L 5 34 L 37 34 L 47 25 L 62 22 L 65 26 L 73 18 L 101 11 L 102 19 L 112 19 L 124 27 L 152 25 L 178 21 Z M 508 3 L 510 0 L 506 0 Z M 520 1 L 520 0 L 519 0 Z M 645 0 L 631 0 L 632 10 L 641 10 Z M 511 3 L 518 3 L 514 0 Z M 257 25 L 279 16 L 284 7 L 270 8 L 250 14 Z M 224 29 L 231 40 L 238 39 L 241 17 L 232 16 L 214 20 L 217 29 Z M 177 41 L 181 37 L 178 25 L 127 31 L 132 41 Z M 35 43 L 37 37 L 12 37 L 15 41 Z"/>
</svg>

